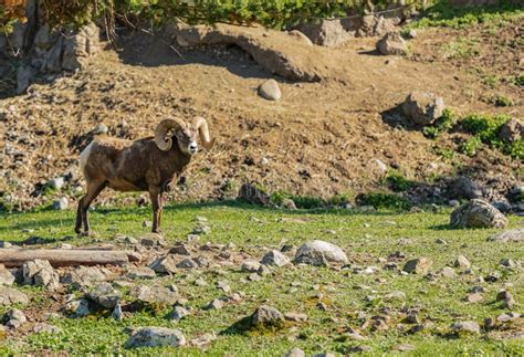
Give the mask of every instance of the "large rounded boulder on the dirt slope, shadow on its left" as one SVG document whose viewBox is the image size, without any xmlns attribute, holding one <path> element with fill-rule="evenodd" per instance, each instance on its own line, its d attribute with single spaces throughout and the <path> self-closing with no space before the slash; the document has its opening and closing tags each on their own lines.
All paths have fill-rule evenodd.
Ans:
<svg viewBox="0 0 524 357">
<path fill-rule="evenodd" d="M 416 126 L 427 126 L 442 116 L 442 97 L 429 92 L 412 92 L 402 104 L 406 117 Z"/>
</svg>

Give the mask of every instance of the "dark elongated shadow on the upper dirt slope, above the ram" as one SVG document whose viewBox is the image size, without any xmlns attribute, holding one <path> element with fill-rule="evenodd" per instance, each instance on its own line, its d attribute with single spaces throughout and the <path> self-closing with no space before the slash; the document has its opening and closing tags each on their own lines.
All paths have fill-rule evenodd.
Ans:
<svg viewBox="0 0 524 357">
<path fill-rule="evenodd" d="M 272 76 L 250 54 L 237 45 L 185 49 L 161 33 L 149 34 L 136 31 L 122 34 L 116 46 L 120 60 L 130 65 L 156 67 L 202 64 L 224 67 L 241 77 L 268 78 Z"/>
</svg>

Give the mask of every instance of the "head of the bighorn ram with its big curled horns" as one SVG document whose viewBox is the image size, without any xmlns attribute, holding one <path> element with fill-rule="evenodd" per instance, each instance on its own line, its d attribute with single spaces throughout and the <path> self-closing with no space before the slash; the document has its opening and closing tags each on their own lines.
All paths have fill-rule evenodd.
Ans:
<svg viewBox="0 0 524 357">
<path fill-rule="evenodd" d="M 179 118 L 164 119 L 155 129 L 155 143 L 164 151 L 171 149 L 175 139 L 184 154 L 193 155 L 198 151 L 198 138 L 207 150 L 214 145 L 214 139 L 209 136 L 208 123 L 201 116 L 197 116 L 191 124 Z"/>
</svg>

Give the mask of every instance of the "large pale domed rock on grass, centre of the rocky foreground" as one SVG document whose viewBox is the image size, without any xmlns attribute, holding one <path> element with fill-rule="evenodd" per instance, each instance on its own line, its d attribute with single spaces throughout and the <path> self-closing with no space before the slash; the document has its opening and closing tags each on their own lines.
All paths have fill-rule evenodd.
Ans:
<svg viewBox="0 0 524 357">
<path fill-rule="evenodd" d="M 311 265 L 325 265 L 326 262 L 346 264 L 347 255 L 333 243 L 314 240 L 298 248 L 295 262 Z"/>
</svg>

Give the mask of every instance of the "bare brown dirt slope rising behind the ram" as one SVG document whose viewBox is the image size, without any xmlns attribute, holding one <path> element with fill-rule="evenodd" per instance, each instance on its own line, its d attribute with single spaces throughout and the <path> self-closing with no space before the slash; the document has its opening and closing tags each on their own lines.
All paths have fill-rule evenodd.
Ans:
<svg viewBox="0 0 524 357">
<path fill-rule="evenodd" d="M 232 196 L 243 181 L 300 195 L 358 193 L 379 185 L 382 174 L 376 159 L 419 181 L 472 167 L 479 176 L 502 174 L 515 180 L 522 162 L 489 149 L 476 159 L 457 155 L 444 160 L 436 146 L 450 146 L 448 136 L 429 140 L 397 125 L 402 118 L 391 112 L 411 91 L 429 91 L 459 113 L 522 116 L 518 87 L 489 87 L 471 74 L 470 64 L 439 52 L 441 39 L 462 35 L 422 31 L 410 42 L 408 57 L 376 55 L 377 39 L 355 39 L 338 49 L 315 46 L 318 61 L 328 63 L 324 70 L 336 73 L 318 83 L 272 76 L 235 46 L 179 49 L 181 59 L 167 38 L 123 35 L 118 51 L 108 48 L 83 71 L 0 102 L 6 130 L 0 191 L 10 192 L 19 208 L 29 208 L 43 198 L 30 196 L 39 182 L 71 172 L 70 192 L 78 195 L 77 157 L 98 124 L 106 125 L 109 135 L 132 139 L 150 135 L 158 120 L 174 115 L 202 115 L 218 137 L 211 153 L 191 162 L 184 185 L 174 192 L 178 199 Z M 488 44 L 485 55 L 512 53 L 509 63 L 515 70 L 495 64 L 493 72 L 517 73 L 522 52 L 514 54 L 511 46 L 495 51 L 495 45 Z M 269 77 L 280 82 L 280 102 L 256 95 L 258 85 Z M 506 93 L 514 105 L 495 108 L 482 99 L 491 93 Z"/>
</svg>

